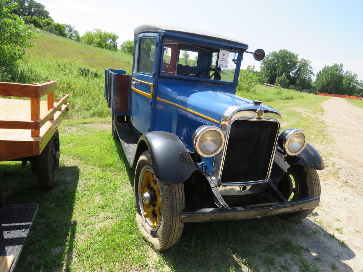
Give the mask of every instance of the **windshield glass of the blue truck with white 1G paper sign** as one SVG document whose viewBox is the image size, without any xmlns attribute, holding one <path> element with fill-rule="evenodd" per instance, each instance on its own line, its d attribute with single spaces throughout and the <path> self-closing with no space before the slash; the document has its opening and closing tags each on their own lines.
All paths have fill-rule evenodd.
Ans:
<svg viewBox="0 0 363 272">
<path fill-rule="evenodd" d="M 166 39 L 162 73 L 233 82 L 238 56 L 233 50 Z"/>
</svg>

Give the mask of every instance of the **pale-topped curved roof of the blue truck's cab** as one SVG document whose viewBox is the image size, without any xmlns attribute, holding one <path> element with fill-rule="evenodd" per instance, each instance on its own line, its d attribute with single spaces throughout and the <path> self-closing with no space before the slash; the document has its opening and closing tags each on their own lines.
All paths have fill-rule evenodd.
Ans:
<svg viewBox="0 0 363 272">
<path fill-rule="evenodd" d="M 244 49 L 248 49 L 248 45 L 245 42 L 241 42 L 232 38 L 224 37 L 221 35 L 216 35 L 209 32 L 194 30 L 194 29 L 187 29 L 187 28 L 178 28 L 175 26 L 167 26 L 167 25 L 140 25 L 135 28 L 134 30 L 134 36 L 140 34 L 140 33 L 146 33 L 146 32 L 159 32 L 159 31 L 165 31 L 165 32 L 172 32 L 172 33 L 178 33 L 193 37 L 199 37 L 204 38 L 212 41 L 218 41 L 218 42 L 225 42 L 227 44 L 236 45 L 238 47 L 242 47 Z"/>
</svg>

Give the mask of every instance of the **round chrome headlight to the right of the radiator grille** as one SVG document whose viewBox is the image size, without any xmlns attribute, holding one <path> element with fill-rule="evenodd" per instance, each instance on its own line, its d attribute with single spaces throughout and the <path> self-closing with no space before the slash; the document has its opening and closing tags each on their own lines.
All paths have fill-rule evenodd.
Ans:
<svg viewBox="0 0 363 272">
<path fill-rule="evenodd" d="M 278 144 L 290 156 L 300 154 L 306 147 L 307 135 L 302 129 L 285 129 L 279 136 Z"/>
</svg>

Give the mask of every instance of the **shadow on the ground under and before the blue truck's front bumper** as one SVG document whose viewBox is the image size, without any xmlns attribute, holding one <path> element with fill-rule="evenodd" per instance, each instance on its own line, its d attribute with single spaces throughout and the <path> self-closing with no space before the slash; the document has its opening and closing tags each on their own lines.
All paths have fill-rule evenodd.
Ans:
<svg viewBox="0 0 363 272">
<path fill-rule="evenodd" d="M 304 219 L 279 217 L 184 225 L 180 242 L 159 253 L 174 271 L 353 271 L 355 253 Z"/>
</svg>

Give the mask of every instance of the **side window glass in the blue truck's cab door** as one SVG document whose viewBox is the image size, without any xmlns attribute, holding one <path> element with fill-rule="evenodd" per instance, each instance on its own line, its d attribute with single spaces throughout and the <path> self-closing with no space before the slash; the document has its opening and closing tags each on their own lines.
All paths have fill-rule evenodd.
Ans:
<svg viewBox="0 0 363 272">
<path fill-rule="evenodd" d="M 138 72 L 152 74 L 155 59 L 155 38 L 141 38 Z"/>
</svg>

